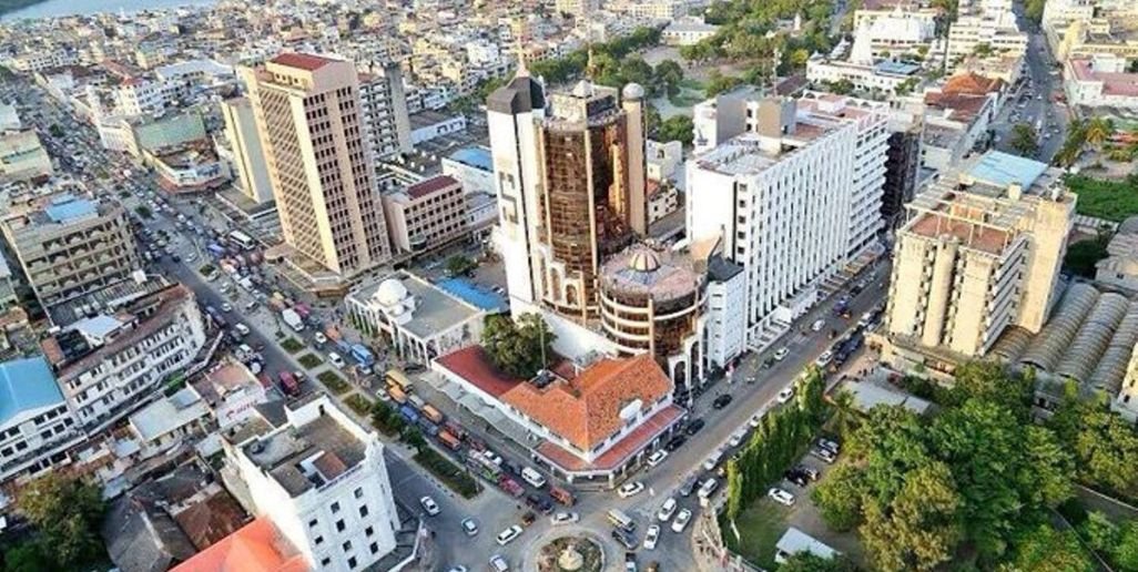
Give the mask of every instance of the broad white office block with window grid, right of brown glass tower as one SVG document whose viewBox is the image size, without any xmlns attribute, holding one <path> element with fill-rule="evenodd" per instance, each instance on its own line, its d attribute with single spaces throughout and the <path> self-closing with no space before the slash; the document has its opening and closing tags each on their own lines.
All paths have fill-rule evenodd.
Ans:
<svg viewBox="0 0 1138 572">
<path fill-rule="evenodd" d="M 882 229 L 888 105 L 809 92 L 702 108 L 710 150 L 687 164 L 687 238 L 721 240 L 743 267 L 737 310 L 745 345 L 760 348 Z"/>
</svg>

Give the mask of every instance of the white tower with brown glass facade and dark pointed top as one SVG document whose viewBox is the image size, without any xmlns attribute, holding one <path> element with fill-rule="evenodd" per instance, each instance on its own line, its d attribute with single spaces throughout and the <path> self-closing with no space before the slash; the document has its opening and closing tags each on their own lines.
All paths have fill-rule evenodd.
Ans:
<svg viewBox="0 0 1138 572">
<path fill-rule="evenodd" d="M 487 101 L 511 296 L 586 321 L 604 260 L 648 230 L 644 90 L 552 93 L 522 67 Z M 517 268 L 517 270 L 516 270 Z"/>
</svg>

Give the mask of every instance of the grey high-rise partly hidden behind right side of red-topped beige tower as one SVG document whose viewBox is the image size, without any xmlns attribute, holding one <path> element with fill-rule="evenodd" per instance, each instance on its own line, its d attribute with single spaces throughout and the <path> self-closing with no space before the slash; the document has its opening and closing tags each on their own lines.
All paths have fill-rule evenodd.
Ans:
<svg viewBox="0 0 1138 572">
<path fill-rule="evenodd" d="M 360 110 L 373 160 L 411 152 L 411 118 L 398 64 L 376 65 L 360 74 Z"/>
</svg>

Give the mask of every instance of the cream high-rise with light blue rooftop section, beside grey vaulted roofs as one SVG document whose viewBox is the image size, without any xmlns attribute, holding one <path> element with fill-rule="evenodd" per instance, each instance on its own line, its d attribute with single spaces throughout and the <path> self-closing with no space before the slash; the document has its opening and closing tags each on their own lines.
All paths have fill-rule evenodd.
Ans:
<svg viewBox="0 0 1138 572">
<path fill-rule="evenodd" d="M 904 349 L 894 351 L 975 357 L 1008 326 L 1038 332 L 1055 300 L 1074 202 L 1059 169 L 999 151 L 922 192 L 897 233 L 888 337 Z"/>
</svg>

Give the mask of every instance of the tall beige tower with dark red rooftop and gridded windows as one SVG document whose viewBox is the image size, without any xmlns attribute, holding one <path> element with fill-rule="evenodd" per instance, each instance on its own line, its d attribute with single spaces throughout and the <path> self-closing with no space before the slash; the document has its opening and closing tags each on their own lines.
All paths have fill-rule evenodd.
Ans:
<svg viewBox="0 0 1138 572">
<path fill-rule="evenodd" d="M 351 61 L 282 53 L 244 68 L 284 242 L 341 276 L 390 259 Z"/>
</svg>

